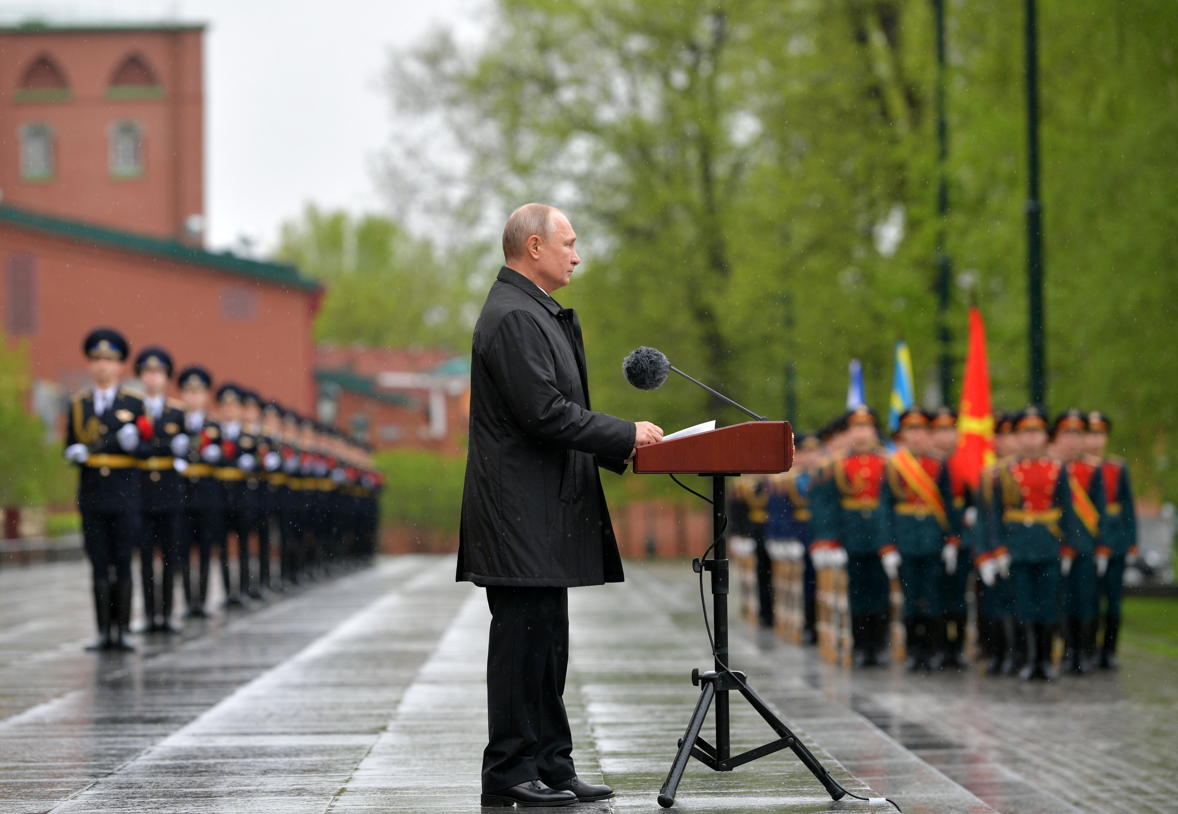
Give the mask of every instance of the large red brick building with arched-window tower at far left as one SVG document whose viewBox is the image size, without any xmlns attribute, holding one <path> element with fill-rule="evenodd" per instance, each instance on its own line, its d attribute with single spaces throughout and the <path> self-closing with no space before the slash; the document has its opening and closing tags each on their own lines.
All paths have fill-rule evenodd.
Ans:
<svg viewBox="0 0 1178 814">
<path fill-rule="evenodd" d="M 200 26 L 0 29 L 0 315 L 46 417 L 121 330 L 310 412 L 319 286 L 200 249 Z"/>
</svg>

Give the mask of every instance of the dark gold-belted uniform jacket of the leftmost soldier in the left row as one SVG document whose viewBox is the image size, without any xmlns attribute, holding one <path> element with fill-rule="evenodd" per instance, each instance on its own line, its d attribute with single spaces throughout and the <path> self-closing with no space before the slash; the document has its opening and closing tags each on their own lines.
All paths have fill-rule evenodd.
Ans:
<svg viewBox="0 0 1178 814">
<path fill-rule="evenodd" d="M 101 416 L 94 415 L 94 391 L 82 390 L 70 399 L 66 449 L 85 444 L 90 458 L 81 464 L 78 478 L 78 508 L 81 511 L 123 512 L 140 510 L 141 450 L 127 452 L 119 445 L 118 432 L 135 424 L 144 415 L 144 403 L 120 386 Z M 143 443 L 140 443 L 143 448 Z"/>
</svg>

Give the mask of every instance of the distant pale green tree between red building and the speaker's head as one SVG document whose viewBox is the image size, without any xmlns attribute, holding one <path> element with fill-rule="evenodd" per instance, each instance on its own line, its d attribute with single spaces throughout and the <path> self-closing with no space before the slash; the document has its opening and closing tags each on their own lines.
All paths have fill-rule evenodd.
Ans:
<svg viewBox="0 0 1178 814">
<path fill-rule="evenodd" d="M 464 351 L 489 285 L 471 260 L 481 251 L 470 245 L 439 256 L 386 217 L 309 206 L 283 225 L 277 258 L 324 283 L 319 340 Z"/>
</svg>

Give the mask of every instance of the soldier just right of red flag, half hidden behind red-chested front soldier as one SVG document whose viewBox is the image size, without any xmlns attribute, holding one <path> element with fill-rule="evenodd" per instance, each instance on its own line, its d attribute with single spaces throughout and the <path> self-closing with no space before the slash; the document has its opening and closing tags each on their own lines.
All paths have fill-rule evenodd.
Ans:
<svg viewBox="0 0 1178 814">
<path fill-rule="evenodd" d="M 994 416 L 994 463 L 982 470 L 978 515 L 973 527 L 973 557 L 978 569 L 978 634 L 988 675 L 1014 675 L 1021 669 L 1014 626 L 1010 551 L 1001 543 L 1001 487 L 999 471 L 1017 458 L 1014 416 Z"/>
</svg>

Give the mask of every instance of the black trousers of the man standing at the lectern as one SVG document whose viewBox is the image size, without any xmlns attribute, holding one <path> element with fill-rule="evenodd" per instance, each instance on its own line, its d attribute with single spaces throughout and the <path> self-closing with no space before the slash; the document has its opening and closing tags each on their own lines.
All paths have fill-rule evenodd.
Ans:
<svg viewBox="0 0 1178 814">
<path fill-rule="evenodd" d="M 568 589 L 491 585 L 487 603 L 490 737 L 483 752 L 483 792 L 536 779 L 564 782 L 576 774 L 562 697 L 569 667 Z"/>
</svg>

